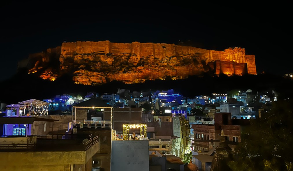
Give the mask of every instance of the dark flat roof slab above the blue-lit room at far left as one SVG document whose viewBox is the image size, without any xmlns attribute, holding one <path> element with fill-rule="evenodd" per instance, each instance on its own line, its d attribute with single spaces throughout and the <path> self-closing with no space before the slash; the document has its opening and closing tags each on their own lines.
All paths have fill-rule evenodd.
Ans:
<svg viewBox="0 0 293 171">
<path fill-rule="evenodd" d="M 0 118 L 0 124 L 32 124 L 35 121 L 54 122 L 59 120 L 29 117 L 29 116 Z"/>
</svg>

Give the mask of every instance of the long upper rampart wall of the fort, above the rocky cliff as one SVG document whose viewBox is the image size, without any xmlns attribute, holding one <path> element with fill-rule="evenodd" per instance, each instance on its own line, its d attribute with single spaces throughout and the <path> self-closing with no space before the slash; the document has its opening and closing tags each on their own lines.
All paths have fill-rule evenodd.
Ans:
<svg viewBox="0 0 293 171">
<path fill-rule="evenodd" d="M 88 54 L 88 53 L 112 53 L 119 55 L 121 53 L 130 53 L 140 56 L 175 56 L 179 55 L 190 55 L 195 53 L 204 53 L 209 58 L 209 50 L 195 48 L 191 46 L 179 46 L 175 44 L 166 43 L 112 43 L 109 41 L 100 42 L 66 42 L 62 43 L 61 55 L 75 55 L 75 54 Z"/>
</svg>

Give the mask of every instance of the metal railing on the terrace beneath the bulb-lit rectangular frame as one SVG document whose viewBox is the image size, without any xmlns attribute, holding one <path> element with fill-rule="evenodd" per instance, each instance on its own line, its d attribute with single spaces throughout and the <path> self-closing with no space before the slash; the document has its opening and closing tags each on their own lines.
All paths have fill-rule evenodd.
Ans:
<svg viewBox="0 0 293 171">
<path fill-rule="evenodd" d="M 74 120 L 72 125 L 78 129 L 110 129 L 111 120 Z"/>
</svg>

